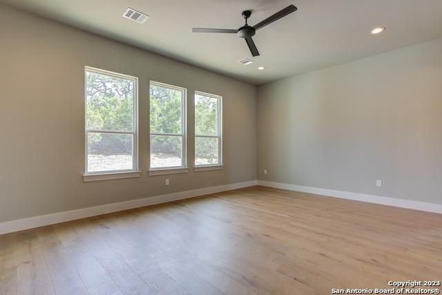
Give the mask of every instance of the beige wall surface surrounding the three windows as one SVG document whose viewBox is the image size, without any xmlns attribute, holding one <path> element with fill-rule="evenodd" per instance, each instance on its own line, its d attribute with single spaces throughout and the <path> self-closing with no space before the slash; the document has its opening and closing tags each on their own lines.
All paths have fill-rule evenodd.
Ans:
<svg viewBox="0 0 442 295">
<path fill-rule="evenodd" d="M 0 222 L 256 179 L 256 86 L 0 5 Z M 84 65 L 140 79 L 137 179 L 83 183 Z M 148 176 L 148 81 L 223 96 L 224 170 Z"/>
</svg>

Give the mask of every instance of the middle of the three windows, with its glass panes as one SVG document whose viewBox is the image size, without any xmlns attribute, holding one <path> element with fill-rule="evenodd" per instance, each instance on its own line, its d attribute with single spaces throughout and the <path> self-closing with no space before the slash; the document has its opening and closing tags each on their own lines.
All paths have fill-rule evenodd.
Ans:
<svg viewBox="0 0 442 295">
<path fill-rule="evenodd" d="M 151 170 L 185 168 L 186 89 L 151 81 Z"/>
</svg>

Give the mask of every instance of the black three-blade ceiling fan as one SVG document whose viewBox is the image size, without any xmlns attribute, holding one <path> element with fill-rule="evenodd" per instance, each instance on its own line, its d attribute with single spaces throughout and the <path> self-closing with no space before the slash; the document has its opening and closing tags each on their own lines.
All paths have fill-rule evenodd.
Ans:
<svg viewBox="0 0 442 295">
<path fill-rule="evenodd" d="M 291 14 L 291 12 L 295 12 L 298 10 L 296 6 L 289 5 L 286 8 L 276 12 L 275 14 L 271 15 L 270 17 L 267 17 L 264 21 L 260 21 L 255 26 L 249 26 L 247 24 L 247 19 L 251 16 L 251 10 L 244 10 L 242 12 L 242 17 L 246 20 L 246 23 L 244 26 L 239 28 L 238 30 L 234 29 L 210 29 L 210 28 L 193 28 L 192 32 L 194 33 L 231 33 L 231 34 L 237 34 L 238 37 L 243 38 L 246 40 L 247 46 L 249 46 L 249 50 L 251 52 L 251 55 L 253 57 L 258 57 L 260 55 L 260 52 L 258 52 L 258 48 L 256 48 L 255 42 L 253 42 L 253 37 L 256 33 L 256 30 L 259 30 L 260 28 L 263 28 L 270 23 L 273 23 L 273 21 L 278 21 L 278 19 L 287 16 L 288 14 Z"/>
</svg>

